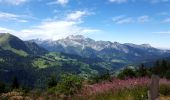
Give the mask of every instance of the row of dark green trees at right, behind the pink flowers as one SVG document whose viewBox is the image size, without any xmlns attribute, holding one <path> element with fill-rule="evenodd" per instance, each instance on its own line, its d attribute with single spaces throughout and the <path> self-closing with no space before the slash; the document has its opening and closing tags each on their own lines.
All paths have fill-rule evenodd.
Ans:
<svg viewBox="0 0 170 100">
<path fill-rule="evenodd" d="M 170 79 L 170 60 L 157 60 L 153 67 L 145 67 L 144 64 L 141 64 L 137 69 L 125 68 L 118 74 L 118 78 L 150 77 L 152 74 Z"/>
</svg>

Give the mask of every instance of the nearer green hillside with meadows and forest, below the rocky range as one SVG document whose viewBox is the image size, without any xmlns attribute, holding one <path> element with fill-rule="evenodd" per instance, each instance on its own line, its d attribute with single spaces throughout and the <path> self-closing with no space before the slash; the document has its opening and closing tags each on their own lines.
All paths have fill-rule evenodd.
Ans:
<svg viewBox="0 0 170 100">
<path fill-rule="evenodd" d="M 48 52 L 36 43 L 22 41 L 11 34 L 0 34 L 0 81 L 10 84 L 17 77 L 21 85 L 44 88 L 51 75 L 74 73 L 84 78 L 104 74 L 101 59 Z M 109 66 L 109 65 L 108 65 Z"/>
</svg>

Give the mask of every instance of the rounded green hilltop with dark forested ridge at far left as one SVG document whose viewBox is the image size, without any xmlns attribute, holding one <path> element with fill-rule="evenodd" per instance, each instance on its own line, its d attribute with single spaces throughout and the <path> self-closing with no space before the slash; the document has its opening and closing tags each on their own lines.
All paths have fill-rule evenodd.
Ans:
<svg viewBox="0 0 170 100">
<path fill-rule="evenodd" d="M 12 52 L 19 54 L 21 56 L 27 56 L 29 54 L 43 54 L 47 50 L 39 47 L 33 42 L 23 41 L 20 38 L 9 34 L 1 33 L 0 34 L 0 47 L 4 50 L 11 50 Z M 36 51 L 37 49 L 37 51 Z"/>
</svg>

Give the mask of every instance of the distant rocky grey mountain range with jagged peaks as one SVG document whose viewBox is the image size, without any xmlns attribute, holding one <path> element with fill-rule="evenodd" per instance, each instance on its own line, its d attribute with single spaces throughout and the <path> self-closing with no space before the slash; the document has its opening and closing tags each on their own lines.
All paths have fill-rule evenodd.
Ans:
<svg viewBox="0 0 170 100">
<path fill-rule="evenodd" d="M 30 40 L 50 52 L 63 52 L 85 58 L 100 58 L 107 62 L 141 62 L 170 56 L 169 50 L 161 50 L 149 44 L 121 44 L 110 41 L 95 41 L 82 35 L 71 35 L 64 39 Z"/>
</svg>

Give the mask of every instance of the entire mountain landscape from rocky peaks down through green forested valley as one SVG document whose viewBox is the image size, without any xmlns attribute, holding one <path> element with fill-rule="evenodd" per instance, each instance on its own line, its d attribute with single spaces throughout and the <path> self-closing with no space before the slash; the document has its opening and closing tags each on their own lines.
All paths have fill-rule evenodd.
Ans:
<svg viewBox="0 0 170 100">
<path fill-rule="evenodd" d="M 74 73 L 85 79 L 109 72 L 114 75 L 125 66 L 170 57 L 169 50 L 148 44 L 121 44 L 95 41 L 81 35 L 64 39 L 23 41 L 9 33 L 0 34 L 0 81 L 44 88 L 51 75 Z"/>
</svg>

